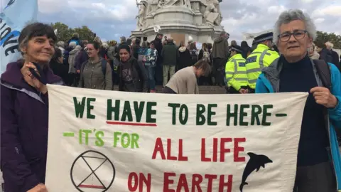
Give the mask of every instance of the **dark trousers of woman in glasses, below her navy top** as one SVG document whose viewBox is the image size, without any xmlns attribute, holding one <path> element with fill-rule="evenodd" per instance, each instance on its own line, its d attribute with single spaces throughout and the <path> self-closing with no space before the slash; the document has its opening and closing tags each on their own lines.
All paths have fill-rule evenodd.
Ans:
<svg viewBox="0 0 341 192">
<path fill-rule="evenodd" d="M 330 162 L 298 166 L 293 192 L 336 192 L 336 178 Z"/>
</svg>

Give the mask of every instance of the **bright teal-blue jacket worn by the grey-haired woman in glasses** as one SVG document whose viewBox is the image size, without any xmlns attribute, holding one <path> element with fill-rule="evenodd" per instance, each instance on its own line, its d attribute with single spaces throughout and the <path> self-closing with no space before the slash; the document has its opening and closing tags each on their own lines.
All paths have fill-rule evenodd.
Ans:
<svg viewBox="0 0 341 192">
<path fill-rule="evenodd" d="M 279 74 L 281 73 L 282 63 L 278 62 L 279 58 L 274 60 L 273 63 L 268 68 L 264 68 L 262 70 L 261 75 L 256 82 L 256 93 L 267 93 L 267 92 L 278 92 L 279 91 Z M 318 82 L 318 86 L 323 86 L 322 81 L 318 77 L 318 72 L 315 68 L 315 64 L 313 60 L 311 60 L 313 65 L 313 70 L 315 73 L 316 81 Z M 341 73 L 337 69 L 337 67 L 331 63 L 330 65 L 330 73 L 332 80 L 332 88 L 330 92 L 334 95 L 337 100 L 337 106 L 334 109 L 328 109 L 328 119 L 326 124 L 329 127 L 329 141 L 331 148 L 331 161 L 334 165 L 334 171 L 337 180 L 337 189 L 341 191 L 341 158 L 340 158 L 340 150 L 337 142 L 337 135 L 335 132 L 336 128 L 341 129 Z"/>
</svg>

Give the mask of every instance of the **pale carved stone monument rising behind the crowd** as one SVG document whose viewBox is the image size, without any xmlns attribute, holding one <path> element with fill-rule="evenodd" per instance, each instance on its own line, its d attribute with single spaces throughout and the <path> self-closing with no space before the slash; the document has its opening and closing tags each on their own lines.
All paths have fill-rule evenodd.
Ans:
<svg viewBox="0 0 341 192">
<path fill-rule="evenodd" d="M 212 43 L 224 28 L 221 26 L 221 0 L 141 0 L 137 28 L 131 36 L 153 41 L 158 29 L 173 37 L 177 44 L 189 37 L 200 43 Z"/>
</svg>

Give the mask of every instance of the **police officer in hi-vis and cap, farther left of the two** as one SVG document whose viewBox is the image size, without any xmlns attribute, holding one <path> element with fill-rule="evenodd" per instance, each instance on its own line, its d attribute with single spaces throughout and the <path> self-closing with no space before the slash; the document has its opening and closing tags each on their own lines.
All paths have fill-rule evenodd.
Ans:
<svg viewBox="0 0 341 192">
<path fill-rule="evenodd" d="M 231 46 L 231 58 L 226 63 L 225 75 L 227 81 L 227 92 L 247 93 L 247 68 L 245 67 L 246 60 L 242 56 L 242 48 L 240 46 Z"/>
</svg>

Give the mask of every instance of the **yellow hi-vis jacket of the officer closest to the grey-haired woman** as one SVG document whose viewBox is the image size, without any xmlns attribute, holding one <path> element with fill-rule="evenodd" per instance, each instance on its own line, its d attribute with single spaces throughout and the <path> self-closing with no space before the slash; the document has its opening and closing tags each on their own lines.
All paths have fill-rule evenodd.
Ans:
<svg viewBox="0 0 341 192">
<path fill-rule="evenodd" d="M 256 88 L 256 82 L 261 75 L 261 70 L 268 67 L 279 55 L 274 50 L 264 44 L 259 44 L 257 48 L 247 57 L 247 78 L 249 79 L 249 87 Z"/>
</svg>

